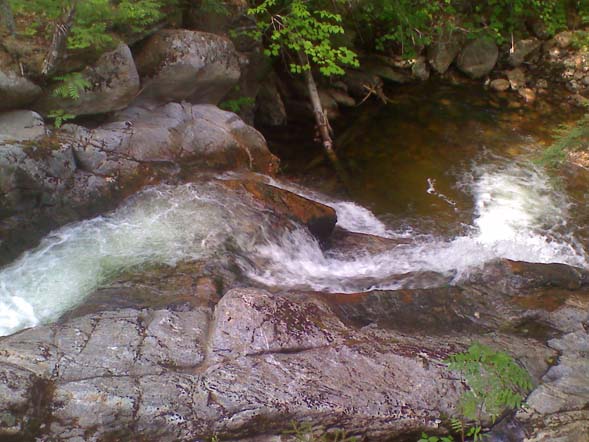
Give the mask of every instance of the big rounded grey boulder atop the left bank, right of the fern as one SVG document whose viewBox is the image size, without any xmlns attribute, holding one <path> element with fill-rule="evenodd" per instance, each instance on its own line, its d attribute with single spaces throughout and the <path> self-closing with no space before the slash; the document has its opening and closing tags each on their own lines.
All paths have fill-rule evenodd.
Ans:
<svg viewBox="0 0 589 442">
<path fill-rule="evenodd" d="M 240 77 L 230 40 L 206 32 L 163 30 L 136 57 L 142 100 L 217 104 Z"/>
</svg>

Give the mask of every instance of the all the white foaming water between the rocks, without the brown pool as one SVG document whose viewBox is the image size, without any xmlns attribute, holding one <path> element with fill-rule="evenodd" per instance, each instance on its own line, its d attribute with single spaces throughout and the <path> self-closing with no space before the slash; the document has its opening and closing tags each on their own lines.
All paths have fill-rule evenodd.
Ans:
<svg viewBox="0 0 589 442">
<path fill-rule="evenodd" d="M 325 252 L 302 226 L 281 231 L 271 214 L 218 184 L 147 189 L 110 215 L 51 233 L 0 270 L 0 335 L 55 320 L 122 272 L 227 253 L 227 242 L 250 278 L 286 289 L 394 289 L 409 272 L 460 278 L 496 258 L 588 267 L 586 252 L 568 230 L 570 204 L 542 170 L 504 164 L 475 168 L 472 176 L 475 215 L 467 234 L 391 241 L 388 250 L 375 254 Z M 407 236 L 355 203 L 287 189 L 332 206 L 338 224 L 350 231 Z"/>
</svg>

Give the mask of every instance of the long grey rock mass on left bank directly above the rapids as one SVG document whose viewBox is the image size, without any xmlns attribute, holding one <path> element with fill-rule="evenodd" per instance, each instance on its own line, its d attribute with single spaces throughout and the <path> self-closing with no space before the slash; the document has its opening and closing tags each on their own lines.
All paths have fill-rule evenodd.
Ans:
<svg viewBox="0 0 589 442">
<path fill-rule="evenodd" d="M 95 129 L 66 124 L 35 140 L 16 141 L 14 135 L 0 139 L 0 212 L 5 215 L 84 206 L 112 196 L 114 189 L 145 182 L 150 171 L 157 176 L 162 164 L 191 175 L 206 170 L 272 174 L 278 166 L 258 131 L 212 105 L 129 108 L 117 121 Z"/>
</svg>

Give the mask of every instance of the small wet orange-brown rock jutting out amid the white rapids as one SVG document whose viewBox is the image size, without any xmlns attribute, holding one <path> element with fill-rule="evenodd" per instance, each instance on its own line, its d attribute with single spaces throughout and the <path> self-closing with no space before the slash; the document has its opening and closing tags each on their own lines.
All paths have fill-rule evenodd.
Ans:
<svg viewBox="0 0 589 442">
<path fill-rule="evenodd" d="M 329 238 L 337 222 L 337 215 L 331 207 L 288 190 L 253 180 L 228 180 L 222 183 L 230 189 L 244 190 L 272 211 L 306 225 L 309 231 L 321 241 Z"/>
</svg>

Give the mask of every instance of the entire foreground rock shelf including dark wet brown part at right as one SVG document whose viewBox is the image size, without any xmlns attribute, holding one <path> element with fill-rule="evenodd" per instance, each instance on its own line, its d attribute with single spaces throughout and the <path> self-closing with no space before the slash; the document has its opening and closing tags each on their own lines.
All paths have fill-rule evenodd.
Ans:
<svg viewBox="0 0 589 442">
<path fill-rule="evenodd" d="M 416 440 L 447 431 L 468 387 L 442 360 L 478 340 L 539 384 L 492 440 L 578 440 L 589 291 L 580 272 L 548 281 L 559 269 L 499 261 L 474 285 L 357 295 L 233 288 L 216 305 L 189 284 L 194 302 L 70 316 L 0 339 L 0 438 L 288 440 L 296 421 Z M 495 274 L 506 285 L 485 285 Z"/>
</svg>

